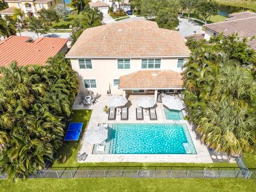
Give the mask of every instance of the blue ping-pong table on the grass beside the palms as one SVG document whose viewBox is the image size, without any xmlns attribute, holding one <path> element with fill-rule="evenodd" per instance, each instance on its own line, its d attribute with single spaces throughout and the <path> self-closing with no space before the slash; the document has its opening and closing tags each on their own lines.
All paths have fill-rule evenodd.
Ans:
<svg viewBox="0 0 256 192">
<path fill-rule="evenodd" d="M 83 123 L 70 123 L 64 141 L 77 141 L 82 131 Z"/>
</svg>

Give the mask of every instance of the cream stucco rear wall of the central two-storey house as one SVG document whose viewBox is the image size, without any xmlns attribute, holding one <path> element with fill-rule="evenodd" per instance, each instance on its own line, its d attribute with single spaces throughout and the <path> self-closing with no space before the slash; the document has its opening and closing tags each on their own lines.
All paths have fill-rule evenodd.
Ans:
<svg viewBox="0 0 256 192">
<path fill-rule="evenodd" d="M 82 58 L 79 58 L 82 59 Z M 83 58 L 91 59 L 91 58 Z M 150 58 L 148 58 L 150 59 Z M 181 68 L 177 68 L 178 58 L 158 58 L 161 59 L 161 68 L 181 72 Z M 183 59 L 183 58 L 181 58 Z M 92 69 L 79 69 L 78 59 L 71 59 L 72 68 L 77 71 L 81 80 L 80 91 L 86 93 L 87 89 L 84 87 L 83 79 L 95 79 L 97 89 L 89 89 L 94 93 L 102 95 L 107 94 L 109 84 L 111 85 L 111 93 L 122 94 L 117 86 L 114 86 L 114 79 L 119 79 L 120 76 L 127 75 L 141 69 L 141 59 L 130 59 L 130 69 L 118 69 L 117 59 L 91 59 Z M 150 69 L 153 70 L 153 69 Z M 159 69 L 154 69 L 159 70 Z"/>
</svg>

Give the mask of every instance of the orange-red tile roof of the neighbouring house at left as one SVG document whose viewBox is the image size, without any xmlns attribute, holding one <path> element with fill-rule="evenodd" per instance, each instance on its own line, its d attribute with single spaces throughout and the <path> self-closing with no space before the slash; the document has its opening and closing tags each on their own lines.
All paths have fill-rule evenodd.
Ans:
<svg viewBox="0 0 256 192">
<path fill-rule="evenodd" d="M 42 37 L 27 42 L 30 37 L 11 36 L 0 41 L 0 66 L 9 65 L 13 60 L 18 65 L 44 65 L 49 57 L 57 54 L 68 39 Z"/>
</svg>

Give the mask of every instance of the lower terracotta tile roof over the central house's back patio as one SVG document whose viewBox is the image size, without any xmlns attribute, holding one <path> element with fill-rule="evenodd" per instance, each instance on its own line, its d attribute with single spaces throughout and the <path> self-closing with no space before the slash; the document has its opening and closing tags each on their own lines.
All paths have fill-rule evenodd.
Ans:
<svg viewBox="0 0 256 192">
<path fill-rule="evenodd" d="M 172 70 L 140 70 L 120 77 L 120 89 L 183 88 L 180 73 Z"/>
</svg>

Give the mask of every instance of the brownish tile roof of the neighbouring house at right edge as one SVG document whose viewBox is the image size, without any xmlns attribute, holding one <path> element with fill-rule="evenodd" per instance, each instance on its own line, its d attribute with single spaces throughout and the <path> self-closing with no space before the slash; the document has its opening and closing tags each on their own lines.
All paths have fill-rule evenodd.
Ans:
<svg viewBox="0 0 256 192">
<path fill-rule="evenodd" d="M 256 17 L 211 23 L 204 27 L 218 34 L 223 32 L 223 36 L 226 37 L 234 33 L 238 33 L 241 37 L 252 37 L 256 35 Z"/>
</svg>

